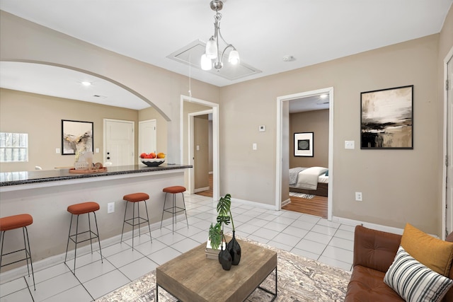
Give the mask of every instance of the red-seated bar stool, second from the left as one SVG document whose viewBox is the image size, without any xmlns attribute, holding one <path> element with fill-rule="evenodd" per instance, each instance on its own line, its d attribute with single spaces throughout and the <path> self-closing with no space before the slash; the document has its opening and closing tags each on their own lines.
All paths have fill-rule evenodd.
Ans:
<svg viewBox="0 0 453 302">
<path fill-rule="evenodd" d="M 69 213 L 71 213 L 71 223 L 69 223 L 69 235 L 68 235 L 68 243 L 66 245 L 66 255 L 64 256 L 64 263 L 66 263 L 66 260 L 67 260 L 69 240 L 71 240 L 75 244 L 74 271 L 72 272 L 72 274 L 76 274 L 77 243 L 83 243 L 85 241 L 90 240 L 91 254 L 93 254 L 93 239 L 98 238 L 99 252 L 101 253 L 101 263 L 103 263 L 102 250 L 101 250 L 101 239 L 99 238 L 98 221 L 96 219 L 96 211 L 98 211 L 98 209 L 100 209 L 100 207 L 99 207 L 99 204 L 96 202 L 82 202 L 81 204 L 72 204 L 67 209 L 69 211 Z M 91 213 L 94 214 L 94 222 L 96 223 L 96 233 L 91 231 L 91 221 L 90 221 Z M 79 233 L 79 216 L 82 214 L 88 214 L 88 231 L 83 231 L 83 232 Z M 76 233 L 71 235 L 72 219 L 74 218 L 74 215 L 77 215 Z M 90 238 L 85 238 L 85 236 L 83 238 L 79 238 L 79 236 L 84 233 L 88 233 L 90 235 Z"/>
</svg>

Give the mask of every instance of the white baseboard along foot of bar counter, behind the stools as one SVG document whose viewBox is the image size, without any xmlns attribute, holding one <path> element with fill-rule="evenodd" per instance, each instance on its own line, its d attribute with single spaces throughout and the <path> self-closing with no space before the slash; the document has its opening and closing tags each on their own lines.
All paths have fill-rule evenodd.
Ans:
<svg viewBox="0 0 453 302">
<path fill-rule="evenodd" d="M 182 221 L 182 220 L 185 222 L 185 214 L 179 214 L 178 216 L 176 216 L 176 221 Z M 166 226 L 167 224 L 171 225 L 171 223 L 172 223 L 172 217 L 165 219 L 162 222 L 162 226 Z M 159 228 L 161 228 L 161 221 L 152 223 L 150 225 L 150 227 L 151 227 L 151 236 L 152 236 L 152 231 L 158 230 Z M 137 231 L 138 230 L 136 229 L 134 231 L 134 233 L 137 234 Z M 148 226 L 142 226 L 140 228 L 140 232 L 149 233 Z M 132 229 L 131 229 L 131 231 L 124 233 L 122 236 L 123 241 L 128 240 L 130 238 L 132 238 Z M 115 243 L 120 243 L 120 240 L 121 240 L 121 234 L 110 237 L 110 238 L 105 238 L 105 239 L 101 240 L 101 248 L 106 248 Z M 98 247 L 99 247 L 98 241 L 95 240 L 93 242 L 93 251 L 98 251 Z M 72 245 L 72 246 L 70 245 L 69 248 L 74 248 L 74 245 Z M 33 250 L 33 247 L 32 247 L 32 250 Z M 81 248 L 77 248 L 77 257 L 87 255 L 89 253 L 91 253 L 90 245 L 84 245 Z M 59 255 L 47 257 L 47 258 L 44 258 L 44 259 L 38 260 L 38 261 L 33 261 L 33 272 L 36 273 L 42 269 L 46 269 L 48 267 L 52 267 L 52 266 L 58 265 L 60 263 L 64 263 L 65 255 L 66 255 L 66 251 L 64 251 L 62 254 L 59 254 Z M 74 258 L 74 249 L 68 251 L 67 259 L 72 260 L 73 258 Z M 25 263 L 25 261 L 24 261 L 24 263 Z M 15 280 L 15 279 L 18 279 L 19 277 L 23 277 L 25 275 L 28 275 L 27 265 L 23 265 L 21 267 L 15 268 L 15 269 L 10 269 L 6 272 L 2 272 L 0 274 L 0 279 L 1 279 L 1 283 L 4 284 L 7 281 Z"/>
</svg>

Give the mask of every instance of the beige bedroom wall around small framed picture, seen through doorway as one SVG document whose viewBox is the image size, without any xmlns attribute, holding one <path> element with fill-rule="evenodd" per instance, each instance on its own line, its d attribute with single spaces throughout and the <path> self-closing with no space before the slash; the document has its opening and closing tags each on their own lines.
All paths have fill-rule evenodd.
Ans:
<svg viewBox="0 0 453 302">
<path fill-rule="evenodd" d="M 313 132 L 313 157 L 294 156 L 294 133 Z M 328 110 L 289 115 L 289 168 L 328 167 Z"/>
</svg>

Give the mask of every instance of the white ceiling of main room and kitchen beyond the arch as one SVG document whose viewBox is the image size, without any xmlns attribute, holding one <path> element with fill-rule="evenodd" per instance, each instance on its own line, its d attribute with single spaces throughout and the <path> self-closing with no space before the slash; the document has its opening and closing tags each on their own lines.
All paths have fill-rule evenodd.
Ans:
<svg viewBox="0 0 453 302">
<path fill-rule="evenodd" d="M 209 0 L 0 0 L 0 9 L 71 35 L 107 50 L 133 57 L 216 86 L 269 76 L 345 57 L 367 50 L 439 33 L 453 0 L 228 0 L 221 11 L 222 35 L 239 51 L 241 62 L 262 71 L 241 79 L 228 80 L 169 59 L 168 56 L 195 40 L 206 42 L 213 34 L 214 11 Z M 283 62 L 292 55 L 294 62 Z M 227 63 L 226 63 L 227 64 Z M 38 86 L 41 94 L 64 90 L 64 79 L 84 81 L 83 74 L 52 67 L 45 70 L 46 83 L 30 83 L 32 74 L 42 76 L 42 66 L 25 74 L 14 66 L 0 65 L 0 85 L 26 91 Z M 23 66 L 27 67 L 28 66 Z M 16 66 L 18 68 L 18 66 Z M 63 73 L 63 74 L 61 74 Z M 19 76 L 15 81 L 6 81 Z M 53 78 L 52 77 L 56 77 Z M 107 105 L 141 109 L 149 107 L 114 83 L 91 79 L 91 91 L 74 88 L 72 96 L 98 102 L 93 95 L 108 96 Z M 72 84 L 71 84 L 72 85 Z M 21 88 L 17 88 L 17 87 Z M 115 86 L 115 87 L 114 87 Z M 116 89 L 113 91 L 113 89 Z M 121 92 L 117 89 L 122 90 Z M 47 93 L 45 91 L 48 91 Z M 33 92 L 33 91 L 30 91 Z M 35 92 L 38 93 L 38 92 Z M 125 99 L 127 103 L 122 103 Z M 116 103 L 116 96 L 120 103 Z M 103 100 L 104 102 L 107 99 Z"/>
</svg>

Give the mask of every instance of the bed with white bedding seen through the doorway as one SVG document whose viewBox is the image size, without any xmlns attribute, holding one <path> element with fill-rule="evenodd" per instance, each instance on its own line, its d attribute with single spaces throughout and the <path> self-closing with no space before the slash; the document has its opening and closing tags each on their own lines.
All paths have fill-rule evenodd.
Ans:
<svg viewBox="0 0 453 302">
<path fill-rule="evenodd" d="M 328 169 L 323 167 L 289 169 L 289 191 L 327 196 Z"/>
</svg>

